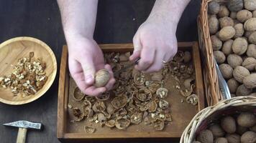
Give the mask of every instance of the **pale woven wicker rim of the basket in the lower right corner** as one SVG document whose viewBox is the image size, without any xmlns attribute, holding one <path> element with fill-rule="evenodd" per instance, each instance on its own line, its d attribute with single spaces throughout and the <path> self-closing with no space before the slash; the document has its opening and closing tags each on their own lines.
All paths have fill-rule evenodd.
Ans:
<svg viewBox="0 0 256 143">
<path fill-rule="evenodd" d="M 256 97 L 234 97 L 201 110 L 201 112 L 198 112 L 198 114 L 193 117 L 188 127 L 184 130 L 180 138 L 180 143 L 193 142 L 196 134 L 206 129 L 207 125 L 214 122 L 214 120 L 218 120 L 223 115 L 238 114 L 239 112 L 256 113 Z"/>
</svg>

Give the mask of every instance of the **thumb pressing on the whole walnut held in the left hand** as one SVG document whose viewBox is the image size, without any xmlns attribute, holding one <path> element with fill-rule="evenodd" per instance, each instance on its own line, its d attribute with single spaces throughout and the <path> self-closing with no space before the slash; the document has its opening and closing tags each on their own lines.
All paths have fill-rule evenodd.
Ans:
<svg viewBox="0 0 256 143">
<path fill-rule="evenodd" d="M 93 58 L 91 56 L 83 57 L 83 59 L 81 59 L 81 66 L 83 69 L 83 74 L 84 74 L 86 84 L 92 85 L 94 83 L 94 75 L 95 75 Z"/>
</svg>

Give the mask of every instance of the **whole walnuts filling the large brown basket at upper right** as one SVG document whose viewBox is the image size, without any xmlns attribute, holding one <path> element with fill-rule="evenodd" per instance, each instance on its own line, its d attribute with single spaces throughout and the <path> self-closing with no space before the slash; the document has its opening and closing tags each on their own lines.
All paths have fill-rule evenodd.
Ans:
<svg viewBox="0 0 256 143">
<path fill-rule="evenodd" d="M 214 58 L 232 97 L 256 95 L 256 1 L 209 2 Z"/>
</svg>

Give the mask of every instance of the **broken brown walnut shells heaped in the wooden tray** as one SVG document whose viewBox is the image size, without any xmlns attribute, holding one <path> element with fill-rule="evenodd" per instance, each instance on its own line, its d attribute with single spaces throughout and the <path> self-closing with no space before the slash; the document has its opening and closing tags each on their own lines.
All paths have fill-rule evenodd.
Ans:
<svg viewBox="0 0 256 143">
<path fill-rule="evenodd" d="M 172 61 L 155 73 L 144 74 L 131 67 L 116 74 L 130 64 L 129 56 L 129 52 L 104 54 L 106 63 L 111 65 L 116 78 L 116 83 L 109 92 L 98 97 L 88 97 L 78 87 L 72 89 L 73 100 L 81 106 L 69 104 L 71 122 L 85 121 L 84 130 L 89 134 L 96 132 L 97 124 L 111 129 L 127 129 L 141 124 L 161 131 L 172 122 L 168 99 L 172 91 L 165 84 L 171 76 L 176 81 L 173 86 L 180 90 L 187 104 L 198 104 L 198 97 L 194 94 L 196 86 L 191 52 L 178 51 Z M 95 85 L 100 87 L 106 84 L 109 74 L 104 70 L 97 73 Z"/>
</svg>

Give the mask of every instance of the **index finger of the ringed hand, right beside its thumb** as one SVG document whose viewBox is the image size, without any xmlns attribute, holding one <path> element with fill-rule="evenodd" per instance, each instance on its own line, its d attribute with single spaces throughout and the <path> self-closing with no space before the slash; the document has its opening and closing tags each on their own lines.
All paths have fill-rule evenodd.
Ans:
<svg viewBox="0 0 256 143">
<path fill-rule="evenodd" d="M 139 71 L 145 71 L 149 68 L 155 59 L 155 48 L 152 46 L 143 46 L 140 54 L 139 64 L 135 66 L 135 69 Z"/>
</svg>

